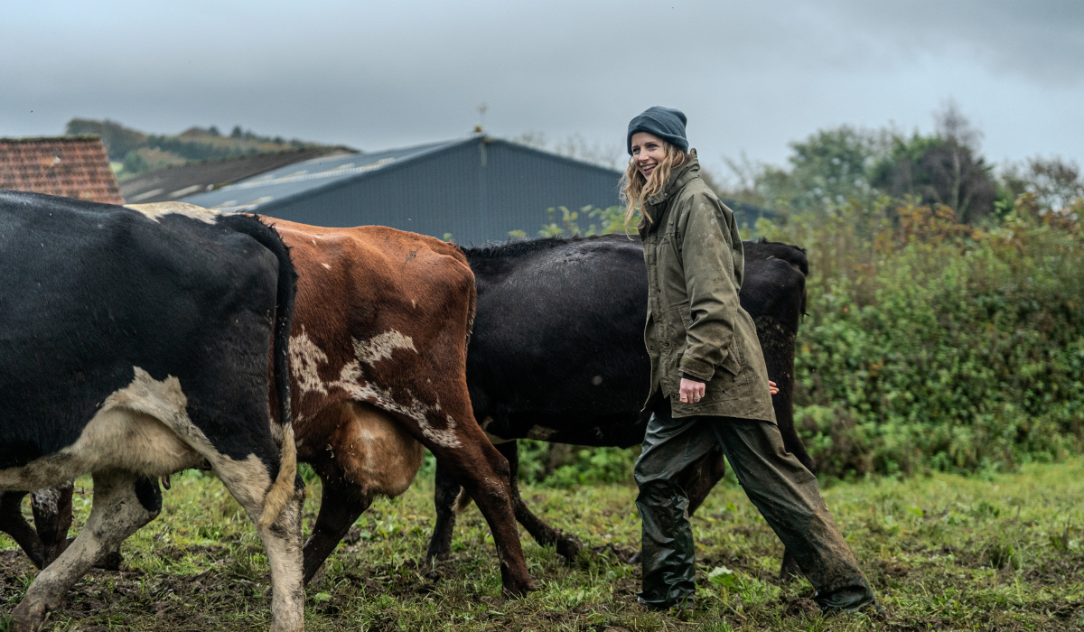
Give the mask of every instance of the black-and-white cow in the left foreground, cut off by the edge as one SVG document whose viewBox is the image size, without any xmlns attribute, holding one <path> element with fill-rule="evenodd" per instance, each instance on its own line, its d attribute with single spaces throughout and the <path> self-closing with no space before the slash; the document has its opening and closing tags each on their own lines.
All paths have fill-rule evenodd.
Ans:
<svg viewBox="0 0 1084 632">
<path fill-rule="evenodd" d="M 263 540 L 271 629 L 301 630 L 286 366 L 296 275 L 279 235 L 177 203 L 0 191 L 0 490 L 94 481 L 87 524 L 30 584 L 16 629 L 38 629 L 158 514 L 157 477 L 209 463 Z"/>
</svg>

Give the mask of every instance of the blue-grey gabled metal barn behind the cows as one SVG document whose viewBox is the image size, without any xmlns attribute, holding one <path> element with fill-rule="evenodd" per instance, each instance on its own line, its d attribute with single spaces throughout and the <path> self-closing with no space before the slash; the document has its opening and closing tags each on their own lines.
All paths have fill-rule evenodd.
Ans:
<svg viewBox="0 0 1084 632">
<path fill-rule="evenodd" d="M 175 197 L 325 227 L 380 224 L 461 244 L 534 235 L 546 209 L 618 203 L 614 169 L 481 134 L 375 153 L 321 156 Z"/>
</svg>

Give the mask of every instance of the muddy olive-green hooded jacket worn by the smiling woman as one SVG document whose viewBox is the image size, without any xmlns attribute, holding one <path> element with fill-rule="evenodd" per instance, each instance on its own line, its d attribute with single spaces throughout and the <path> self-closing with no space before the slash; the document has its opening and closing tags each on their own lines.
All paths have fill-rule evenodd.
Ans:
<svg viewBox="0 0 1084 632">
<path fill-rule="evenodd" d="M 644 204 L 647 263 L 644 343 L 651 391 L 674 417 L 713 415 L 775 422 L 757 326 L 738 302 L 745 255 L 734 211 L 700 179 L 696 151 Z M 682 373 L 707 381 L 698 402 L 679 400 Z M 672 397 L 671 397 L 672 396 Z"/>
</svg>

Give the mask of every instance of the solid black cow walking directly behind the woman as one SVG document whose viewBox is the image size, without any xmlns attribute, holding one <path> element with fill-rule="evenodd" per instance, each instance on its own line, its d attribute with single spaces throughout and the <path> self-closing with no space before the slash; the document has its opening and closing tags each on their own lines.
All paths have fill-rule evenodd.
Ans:
<svg viewBox="0 0 1084 632">
<path fill-rule="evenodd" d="M 647 272 L 638 240 L 624 235 L 514 242 L 464 248 L 478 288 L 467 347 L 475 418 L 508 460 L 516 519 L 538 542 L 573 558 L 581 549 L 539 519 L 516 480 L 516 439 L 628 448 L 644 439 L 640 413 L 650 361 L 644 348 Z M 795 431 L 795 339 L 805 310 L 809 262 L 802 249 L 745 242 L 741 307 L 757 323 L 786 449 L 816 472 Z M 722 450 L 699 466 L 689 488 L 694 512 L 726 472 Z M 695 476 L 695 473 L 694 473 Z M 437 524 L 429 557 L 446 556 L 460 486 L 437 465 Z M 797 570 L 784 556 L 782 577 Z"/>
</svg>

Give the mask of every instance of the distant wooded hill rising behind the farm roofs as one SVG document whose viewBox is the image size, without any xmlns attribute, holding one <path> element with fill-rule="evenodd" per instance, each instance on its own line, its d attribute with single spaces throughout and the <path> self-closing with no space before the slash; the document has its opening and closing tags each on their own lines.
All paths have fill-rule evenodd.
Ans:
<svg viewBox="0 0 1084 632">
<path fill-rule="evenodd" d="M 229 136 L 223 136 L 215 126 L 192 127 L 170 136 L 149 134 L 113 120 L 73 118 L 66 133 L 102 137 L 120 181 L 154 169 L 199 160 L 325 146 L 296 139 L 287 141 L 282 137 L 261 137 L 241 129 L 240 125 Z"/>
</svg>

